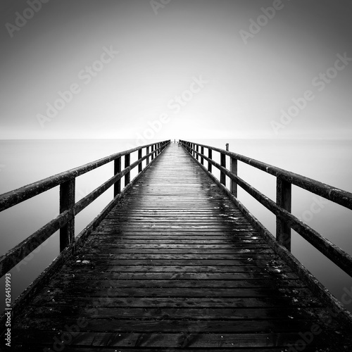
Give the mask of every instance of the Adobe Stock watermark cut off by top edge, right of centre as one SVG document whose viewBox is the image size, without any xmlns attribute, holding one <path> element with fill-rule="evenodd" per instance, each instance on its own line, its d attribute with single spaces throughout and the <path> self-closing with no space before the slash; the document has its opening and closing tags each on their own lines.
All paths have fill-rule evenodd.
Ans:
<svg viewBox="0 0 352 352">
<path fill-rule="evenodd" d="M 287 0 L 290 1 L 290 0 Z M 282 0 L 274 0 L 272 2 L 272 6 L 267 8 L 260 8 L 262 13 L 258 15 L 256 20 L 252 18 L 249 19 L 249 30 L 240 30 L 239 34 L 241 35 L 241 39 L 243 40 L 244 44 L 248 44 L 249 38 L 253 39 L 256 34 L 262 30 L 262 27 L 268 25 L 269 20 L 275 17 L 277 11 L 282 10 L 284 8 L 284 4 L 282 4 Z"/>
</svg>

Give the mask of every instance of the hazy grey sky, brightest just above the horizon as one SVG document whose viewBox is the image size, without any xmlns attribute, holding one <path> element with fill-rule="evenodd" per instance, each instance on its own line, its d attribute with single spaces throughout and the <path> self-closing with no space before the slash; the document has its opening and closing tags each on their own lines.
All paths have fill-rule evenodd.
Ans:
<svg viewBox="0 0 352 352">
<path fill-rule="evenodd" d="M 0 138 L 352 137 L 351 18 L 350 0 L 1 0 Z"/>
</svg>

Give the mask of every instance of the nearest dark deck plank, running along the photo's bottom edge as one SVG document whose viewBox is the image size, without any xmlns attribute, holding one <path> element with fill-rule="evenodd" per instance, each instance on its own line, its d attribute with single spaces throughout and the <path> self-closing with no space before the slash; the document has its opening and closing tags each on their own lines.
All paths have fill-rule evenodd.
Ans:
<svg viewBox="0 0 352 352">
<path fill-rule="evenodd" d="M 158 351 L 155 348 L 177 348 L 177 351 L 180 351 L 180 348 L 187 351 L 192 351 L 189 348 L 196 348 L 194 351 L 199 351 L 199 348 L 209 348 L 208 351 L 216 351 L 213 348 L 220 348 L 220 351 L 226 351 L 227 348 L 231 348 L 230 351 L 233 351 L 233 348 L 253 348 L 244 351 L 263 352 L 268 351 L 267 348 L 276 348 L 277 346 L 280 348 L 289 345 L 295 346 L 298 339 L 301 339 L 298 333 L 204 334 L 199 331 L 191 333 L 187 332 L 187 329 L 184 330 L 181 333 L 164 334 L 139 334 L 134 332 L 96 332 L 92 334 L 92 332 L 79 332 L 74 336 L 70 334 L 69 336 L 73 337 L 70 339 L 70 346 L 64 347 L 89 346 L 89 348 L 96 348 L 109 346 L 110 351 L 113 347 L 128 348 L 125 351 L 129 351 L 130 348 L 137 348 L 137 351 L 144 351 L 144 348 L 153 348 L 153 351 Z M 35 330 L 18 330 L 15 341 L 18 341 L 18 344 L 23 343 L 24 345 L 34 345 L 38 344 L 38 341 L 42 341 L 44 346 L 49 347 L 54 345 L 54 341 L 56 341 L 54 337 L 61 337 L 64 332 L 68 332 L 67 329 L 59 333 L 53 332 L 51 329 L 40 332 Z M 341 341 L 339 342 L 338 337 L 333 337 L 333 333 L 328 337 L 325 334 L 318 334 L 315 336 L 313 343 L 309 344 L 309 347 L 320 347 L 325 348 L 325 350 L 327 346 L 335 346 L 337 348 L 335 351 L 348 351 L 341 344 Z M 261 348 L 264 349 L 262 350 Z M 236 351 L 241 350 L 236 349 Z"/>
</svg>

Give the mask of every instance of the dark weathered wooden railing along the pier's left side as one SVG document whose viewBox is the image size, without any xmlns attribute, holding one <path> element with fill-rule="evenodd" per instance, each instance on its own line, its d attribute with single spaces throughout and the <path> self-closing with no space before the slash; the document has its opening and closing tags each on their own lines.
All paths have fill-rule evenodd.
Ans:
<svg viewBox="0 0 352 352">
<path fill-rule="evenodd" d="M 25 240 L 20 242 L 13 249 L 9 250 L 4 256 L 0 257 L 0 277 L 11 270 L 15 265 L 20 263 L 28 254 L 42 244 L 46 239 L 51 237 L 56 231 L 60 230 L 60 251 L 75 241 L 75 215 L 80 213 L 84 208 L 89 206 L 96 198 L 101 196 L 108 188 L 114 185 L 114 197 L 121 192 L 121 179 L 125 177 L 125 187 L 130 184 L 130 171 L 138 166 L 138 172 L 142 172 L 142 162 L 146 160 L 146 166 L 159 156 L 160 153 L 170 144 L 170 140 L 146 144 L 134 149 L 122 151 L 120 153 L 106 156 L 99 160 L 87 163 L 77 168 L 58 173 L 57 175 L 46 177 L 44 180 L 27 184 L 13 191 L 0 195 L 0 211 L 11 208 L 18 203 L 31 199 L 38 194 L 48 191 L 51 188 L 60 186 L 60 214 L 53 220 L 49 221 L 42 228 L 31 234 Z M 149 152 L 151 147 L 151 152 Z M 146 149 L 146 155 L 142 156 L 143 149 Z M 138 160 L 130 164 L 130 154 L 138 151 Z M 125 157 L 125 169 L 121 170 L 121 157 Z M 108 181 L 90 192 L 87 196 L 75 203 L 75 178 L 91 170 L 101 167 L 114 161 L 114 175 Z"/>
</svg>

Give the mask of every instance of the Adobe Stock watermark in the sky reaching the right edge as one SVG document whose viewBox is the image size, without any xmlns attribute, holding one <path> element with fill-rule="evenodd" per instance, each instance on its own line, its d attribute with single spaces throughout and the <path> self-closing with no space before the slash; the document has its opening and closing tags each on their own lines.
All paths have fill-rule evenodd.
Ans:
<svg viewBox="0 0 352 352">
<path fill-rule="evenodd" d="M 347 56 L 345 52 L 344 55 L 336 54 L 337 60 L 334 62 L 334 65 L 329 67 L 325 73 L 319 73 L 311 81 L 313 87 L 315 87 L 318 92 L 322 92 L 327 84 L 331 83 L 334 78 L 337 77 L 338 73 L 351 63 L 352 58 Z M 279 121 L 271 120 L 270 125 L 275 134 L 279 134 L 280 130 L 283 130 L 287 125 L 289 125 L 294 118 L 296 118 L 303 109 L 308 106 L 308 102 L 313 101 L 316 97 L 316 93 L 312 89 L 307 89 L 303 92 L 301 97 L 291 99 L 293 104 L 287 108 L 287 110 L 280 110 Z"/>
</svg>

